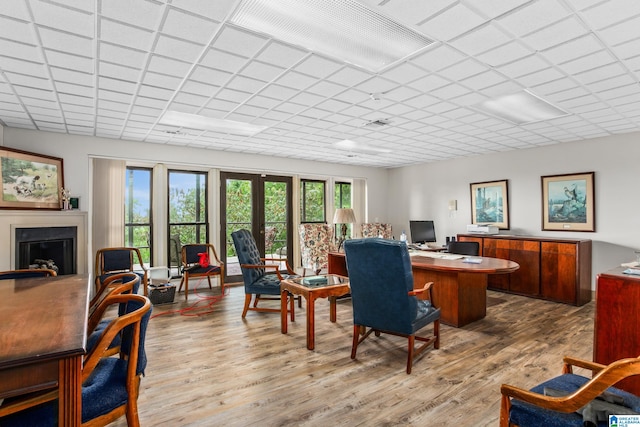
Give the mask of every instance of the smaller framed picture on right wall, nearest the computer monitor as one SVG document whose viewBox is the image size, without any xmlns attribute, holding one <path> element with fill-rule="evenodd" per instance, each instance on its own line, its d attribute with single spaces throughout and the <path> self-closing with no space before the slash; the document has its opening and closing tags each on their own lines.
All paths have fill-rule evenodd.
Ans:
<svg viewBox="0 0 640 427">
<path fill-rule="evenodd" d="M 471 223 L 509 229 L 507 180 L 471 184 Z"/>
</svg>

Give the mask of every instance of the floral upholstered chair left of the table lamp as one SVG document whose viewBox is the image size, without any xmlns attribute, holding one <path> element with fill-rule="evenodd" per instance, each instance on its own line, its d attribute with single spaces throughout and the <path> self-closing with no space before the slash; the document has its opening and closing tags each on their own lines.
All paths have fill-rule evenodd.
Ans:
<svg viewBox="0 0 640 427">
<path fill-rule="evenodd" d="M 300 224 L 302 267 L 316 271 L 326 269 L 329 252 L 337 250 L 333 225 Z"/>
</svg>

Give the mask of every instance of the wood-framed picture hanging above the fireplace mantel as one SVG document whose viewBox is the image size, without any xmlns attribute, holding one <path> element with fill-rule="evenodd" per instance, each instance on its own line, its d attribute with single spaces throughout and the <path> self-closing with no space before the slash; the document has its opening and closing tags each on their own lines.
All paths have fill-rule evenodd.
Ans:
<svg viewBox="0 0 640 427">
<path fill-rule="evenodd" d="M 0 209 L 61 208 L 62 159 L 0 147 Z"/>
</svg>

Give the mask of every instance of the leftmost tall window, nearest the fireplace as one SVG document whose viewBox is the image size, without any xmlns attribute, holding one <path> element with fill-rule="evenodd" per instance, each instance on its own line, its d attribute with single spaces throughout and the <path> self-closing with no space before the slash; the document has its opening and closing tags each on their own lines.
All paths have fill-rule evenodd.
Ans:
<svg viewBox="0 0 640 427">
<path fill-rule="evenodd" d="M 140 249 L 142 262 L 151 265 L 151 169 L 126 169 L 124 192 L 124 242 Z"/>
</svg>

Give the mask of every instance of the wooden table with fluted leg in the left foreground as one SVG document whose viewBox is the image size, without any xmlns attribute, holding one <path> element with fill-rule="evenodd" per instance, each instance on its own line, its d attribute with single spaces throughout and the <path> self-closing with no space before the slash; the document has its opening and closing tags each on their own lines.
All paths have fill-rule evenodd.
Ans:
<svg viewBox="0 0 640 427">
<path fill-rule="evenodd" d="M 79 426 L 86 275 L 0 280 L 0 398 L 58 389 L 58 425 Z"/>
</svg>

